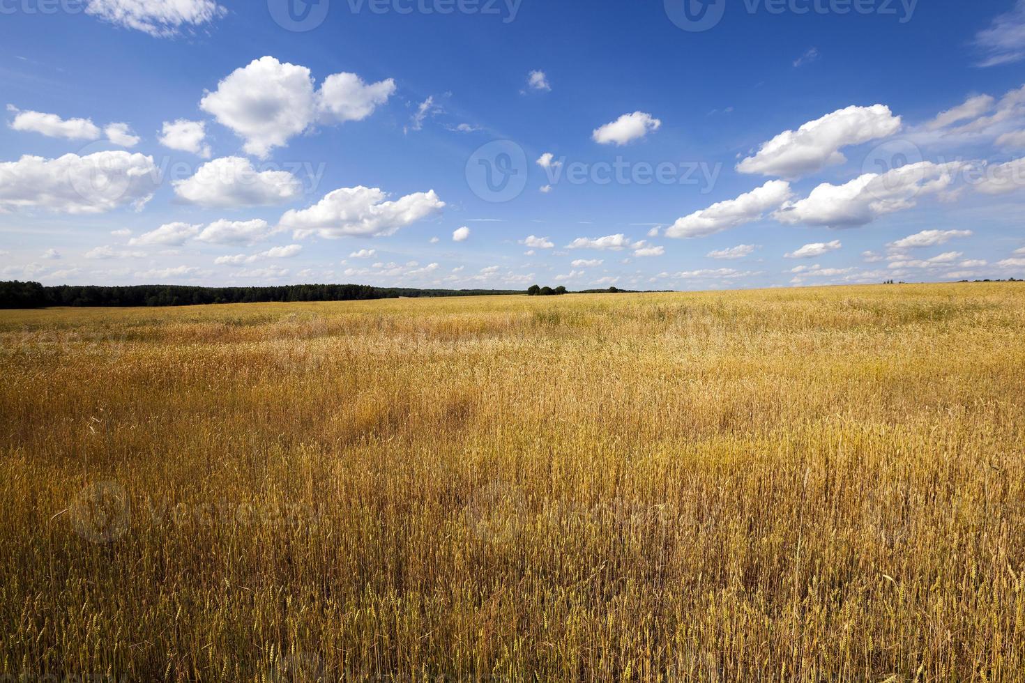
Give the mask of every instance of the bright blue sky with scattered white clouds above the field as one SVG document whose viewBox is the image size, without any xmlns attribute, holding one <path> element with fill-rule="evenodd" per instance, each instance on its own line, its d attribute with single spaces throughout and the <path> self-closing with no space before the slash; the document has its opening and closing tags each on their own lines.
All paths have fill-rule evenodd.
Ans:
<svg viewBox="0 0 1025 683">
<path fill-rule="evenodd" d="M 1023 66 L 1025 0 L 0 0 L 0 276 L 1022 278 Z"/>
</svg>

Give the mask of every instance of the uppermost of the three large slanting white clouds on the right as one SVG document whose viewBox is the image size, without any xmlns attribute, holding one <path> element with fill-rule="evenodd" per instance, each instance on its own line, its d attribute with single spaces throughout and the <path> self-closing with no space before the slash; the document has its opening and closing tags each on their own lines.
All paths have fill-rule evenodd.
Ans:
<svg viewBox="0 0 1025 683">
<path fill-rule="evenodd" d="M 737 170 L 798 177 L 843 164 L 847 157 L 839 152 L 842 147 L 888 137 L 900 127 L 900 117 L 895 117 L 884 104 L 848 106 L 763 142 L 757 154 L 737 164 Z"/>
</svg>

